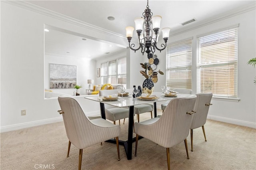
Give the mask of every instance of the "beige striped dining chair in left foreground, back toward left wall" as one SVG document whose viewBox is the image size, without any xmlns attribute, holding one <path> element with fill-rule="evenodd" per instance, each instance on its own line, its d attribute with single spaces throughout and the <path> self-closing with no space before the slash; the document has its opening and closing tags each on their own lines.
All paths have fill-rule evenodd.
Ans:
<svg viewBox="0 0 256 170">
<path fill-rule="evenodd" d="M 118 160 L 120 160 L 118 136 L 120 126 L 113 125 L 105 119 L 89 120 L 79 103 L 72 97 L 58 97 L 60 114 L 62 114 L 66 134 L 69 140 L 68 154 L 71 143 L 79 149 L 78 169 L 81 169 L 83 149 L 102 141 L 116 138 Z"/>
</svg>

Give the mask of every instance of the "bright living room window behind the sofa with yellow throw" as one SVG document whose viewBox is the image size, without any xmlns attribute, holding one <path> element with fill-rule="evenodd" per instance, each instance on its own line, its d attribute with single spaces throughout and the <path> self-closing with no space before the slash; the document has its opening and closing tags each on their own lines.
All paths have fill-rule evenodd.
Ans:
<svg viewBox="0 0 256 170">
<path fill-rule="evenodd" d="M 117 84 L 118 78 L 126 78 L 126 57 L 101 64 L 101 83 Z"/>
</svg>

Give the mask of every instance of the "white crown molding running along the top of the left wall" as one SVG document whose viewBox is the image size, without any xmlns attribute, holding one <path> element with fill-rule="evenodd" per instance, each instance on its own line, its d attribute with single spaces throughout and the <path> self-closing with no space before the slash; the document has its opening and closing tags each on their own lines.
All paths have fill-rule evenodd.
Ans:
<svg viewBox="0 0 256 170">
<path fill-rule="evenodd" d="M 74 24 L 74 25 L 77 25 L 77 26 L 81 26 L 83 28 L 94 30 L 96 32 L 103 33 L 103 34 L 106 34 L 106 35 L 109 35 L 109 36 L 114 36 L 114 37 L 117 37 L 117 38 L 124 38 L 124 39 L 126 39 L 125 36 L 123 36 L 121 34 L 117 34 L 116 32 L 112 32 L 110 30 L 106 30 L 104 28 L 101 28 L 101 27 L 98 27 L 98 26 L 94 26 L 94 25 L 89 24 L 87 22 L 83 22 L 81 20 L 77 20 L 75 18 L 71 18 L 69 16 L 62 15 L 60 13 L 54 12 L 52 10 L 48 10 L 46 8 L 42 8 L 40 6 L 31 4 L 29 2 L 25 2 L 25 1 L 21 1 L 21 0 L 17 0 L 17 1 L 4 0 L 4 1 L 1 1 L 1 2 L 6 2 L 8 4 L 11 4 L 11 5 L 14 5 L 14 6 L 18 6 L 20 8 L 24 8 L 26 10 L 30 10 L 30 11 L 33 11 L 33 12 L 36 12 L 36 13 L 39 13 L 39 14 L 43 14 L 45 16 L 56 18 L 58 20 L 62 20 L 64 22 L 68 22 L 70 24 Z"/>
</svg>

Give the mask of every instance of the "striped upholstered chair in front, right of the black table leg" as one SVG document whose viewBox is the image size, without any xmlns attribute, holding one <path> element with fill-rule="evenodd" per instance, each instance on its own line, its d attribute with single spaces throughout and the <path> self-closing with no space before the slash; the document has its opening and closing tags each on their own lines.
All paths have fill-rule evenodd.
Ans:
<svg viewBox="0 0 256 170">
<path fill-rule="evenodd" d="M 140 135 L 166 148 L 168 170 L 170 170 L 169 148 L 183 140 L 185 142 L 187 158 L 189 159 L 186 138 L 189 134 L 195 103 L 196 95 L 175 98 L 170 101 L 160 118 L 156 117 L 135 123 L 135 156 L 137 156 L 138 137 Z"/>
</svg>

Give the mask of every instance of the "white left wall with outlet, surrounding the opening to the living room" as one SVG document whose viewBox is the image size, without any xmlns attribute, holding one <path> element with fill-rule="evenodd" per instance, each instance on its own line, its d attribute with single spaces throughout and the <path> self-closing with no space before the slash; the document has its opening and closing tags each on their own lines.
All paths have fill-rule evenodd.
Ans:
<svg viewBox="0 0 256 170">
<path fill-rule="evenodd" d="M 125 38 L 89 29 L 83 23 L 72 24 L 71 20 L 65 22 L 65 18 L 56 19 L 54 16 L 49 17 L 51 15 L 26 10 L 18 4 L 12 5 L 15 3 L 12 1 L 0 3 L 1 132 L 62 121 L 57 112 L 60 109 L 57 99 L 44 99 L 44 24 L 83 35 L 94 35 L 97 39 L 112 40 L 121 45 L 126 44 Z M 84 72 L 85 77 L 81 76 L 81 79 L 87 79 L 95 72 Z M 99 110 L 99 105 L 94 107 L 85 100 L 92 106 L 85 112 Z M 26 109 L 26 116 L 21 116 L 23 109 Z"/>
</svg>

